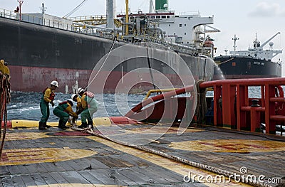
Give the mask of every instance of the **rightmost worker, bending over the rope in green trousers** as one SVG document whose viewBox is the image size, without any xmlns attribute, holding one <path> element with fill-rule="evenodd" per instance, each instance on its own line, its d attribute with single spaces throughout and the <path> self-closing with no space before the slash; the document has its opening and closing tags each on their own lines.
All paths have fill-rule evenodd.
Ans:
<svg viewBox="0 0 285 187">
<path fill-rule="evenodd" d="M 79 95 L 81 95 L 81 93 L 79 93 Z M 94 126 L 92 118 L 93 114 L 97 112 L 98 101 L 95 100 L 92 92 L 84 92 L 81 97 L 81 104 L 83 112 L 81 112 L 81 126 L 78 128 L 86 128 L 90 126 L 93 129 Z"/>
</svg>

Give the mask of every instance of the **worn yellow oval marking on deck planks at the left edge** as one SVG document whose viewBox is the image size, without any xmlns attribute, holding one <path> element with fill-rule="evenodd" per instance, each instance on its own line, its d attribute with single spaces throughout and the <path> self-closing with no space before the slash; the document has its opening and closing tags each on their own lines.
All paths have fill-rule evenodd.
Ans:
<svg viewBox="0 0 285 187">
<path fill-rule="evenodd" d="M 36 164 L 42 162 L 68 161 L 98 154 L 96 151 L 84 149 L 31 148 L 4 149 L 0 166 Z"/>
</svg>

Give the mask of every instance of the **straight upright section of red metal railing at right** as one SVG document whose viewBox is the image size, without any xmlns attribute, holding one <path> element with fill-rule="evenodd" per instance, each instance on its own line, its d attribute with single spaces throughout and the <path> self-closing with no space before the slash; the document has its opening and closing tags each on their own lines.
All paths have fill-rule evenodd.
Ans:
<svg viewBox="0 0 285 187">
<path fill-rule="evenodd" d="M 284 109 L 276 105 L 285 102 L 276 97 L 276 86 L 285 85 L 285 78 L 259 78 L 247 80 L 214 80 L 202 82 L 199 87 L 214 87 L 214 125 L 239 130 L 259 132 L 261 119 L 266 124 L 266 134 L 275 134 L 276 124 L 284 124 Z M 259 105 L 252 105 L 248 87 L 260 87 Z M 222 100 L 222 107 L 219 101 Z"/>
</svg>

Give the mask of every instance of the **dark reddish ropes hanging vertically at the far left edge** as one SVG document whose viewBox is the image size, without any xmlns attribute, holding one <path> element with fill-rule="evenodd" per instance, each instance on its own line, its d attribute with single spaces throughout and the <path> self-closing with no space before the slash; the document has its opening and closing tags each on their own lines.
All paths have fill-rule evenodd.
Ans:
<svg viewBox="0 0 285 187">
<path fill-rule="evenodd" d="M 1 139 L 1 147 L 0 147 L 0 159 L 2 150 L 4 147 L 4 141 L 6 137 L 6 129 L 7 129 L 7 104 L 10 102 L 10 82 L 9 75 L 3 74 L 0 71 L 0 139 Z M 2 124 L 3 124 L 3 135 L 2 135 Z"/>
</svg>

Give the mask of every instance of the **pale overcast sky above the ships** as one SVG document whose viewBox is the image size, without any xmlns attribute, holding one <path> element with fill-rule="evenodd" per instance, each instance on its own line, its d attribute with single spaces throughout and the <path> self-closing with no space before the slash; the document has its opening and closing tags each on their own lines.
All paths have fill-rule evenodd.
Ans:
<svg viewBox="0 0 285 187">
<path fill-rule="evenodd" d="M 14 10 L 19 5 L 16 0 L 0 0 L 0 9 Z M 24 0 L 22 13 L 41 12 L 41 4 L 46 6 L 46 14 L 65 16 L 83 0 Z M 117 13 L 125 12 L 125 0 L 114 0 Z M 130 11 L 149 10 L 149 0 L 128 0 Z M 215 55 L 224 54 L 224 50 L 233 50 L 232 38 L 237 35 L 237 50 L 252 47 L 256 34 L 261 43 L 267 41 L 275 33 L 281 32 L 272 41 L 274 49 L 285 50 L 285 1 L 284 0 L 168 0 L 169 9 L 179 15 L 183 12 L 197 12 L 201 16 L 214 16 L 214 28 L 220 33 L 210 33 L 217 47 Z M 105 14 L 105 0 L 86 0 L 73 16 L 91 16 Z M 267 44 L 265 49 L 269 48 Z M 283 62 L 285 77 L 285 51 L 273 60 Z"/>
</svg>

